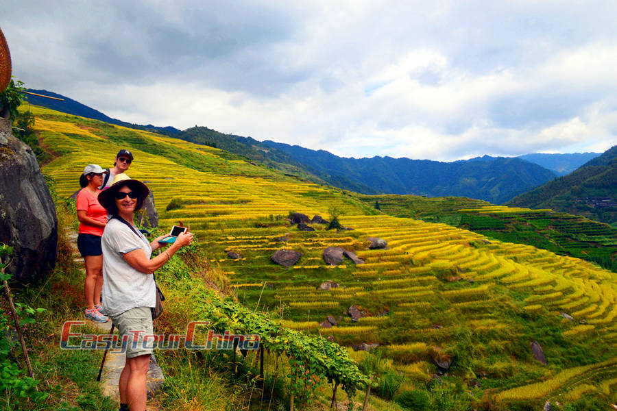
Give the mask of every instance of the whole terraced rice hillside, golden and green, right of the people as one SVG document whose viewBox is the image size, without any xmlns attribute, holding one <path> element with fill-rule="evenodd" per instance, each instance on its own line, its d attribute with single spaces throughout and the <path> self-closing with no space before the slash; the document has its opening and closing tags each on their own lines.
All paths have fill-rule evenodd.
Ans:
<svg viewBox="0 0 617 411">
<path fill-rule="evenodd" d="M 546 401 L 553 410 L 609 410 L 617 402 L 617 274 L 580 259 L 614 257 L 607 225 L 471 199 L 359 196 L 213 147 L 32 110 L 42 145 L 58 155 L 43 172 L 60 197 L 79 188 L 84 164 L 109 166 L 130 148 L 128 174 L 154 192 L 163 229 L 190 225 L 247 312 L 346 347 L 361 371 L 376 372 L 373 393 L 384 400 L 435 397 L 445 387 L 457 404 L 447 410 L 541 410 Z M 290 212 L 338 216 L 351 229 L 309 223 L 314 231 L 302 231 Z M 521 243 L 529 232 L 538 247 Z M 387 249 L 369 249 L 367 238 Z M 326 264 L 330 246 L 363 264 Z M 274 264 L 280 249 L 302 256 L 289 268 Z M 370 369 L 372 361 L 382 366 Z"/>
</svg>

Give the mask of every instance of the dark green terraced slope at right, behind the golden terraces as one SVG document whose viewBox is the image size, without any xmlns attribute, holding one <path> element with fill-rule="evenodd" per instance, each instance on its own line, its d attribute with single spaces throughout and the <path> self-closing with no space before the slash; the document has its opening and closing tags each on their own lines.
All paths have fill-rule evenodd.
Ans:
<svg viewBox="0 0 617 411">
<path fill-rule="evenodd" d="M 596 262 L 617 272 L 617 228 L 553 210 L 493 206 L 464 197 L 413 195 L 360 197 L 367 205 L 399 217 L 446 223 L 497 240 L 533 245 Z"/>
</svg>

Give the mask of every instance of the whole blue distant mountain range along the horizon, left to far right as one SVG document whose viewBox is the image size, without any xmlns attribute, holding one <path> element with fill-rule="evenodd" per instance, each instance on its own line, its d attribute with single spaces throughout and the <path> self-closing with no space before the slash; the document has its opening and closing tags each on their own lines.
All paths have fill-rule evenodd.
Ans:
<svg viewBox="0 0 617 411">
<path fill-rule="evenodd" d="M 27 100 L 35 105 L 210 145 L 291 175 L 363 194 L 415 194 L 428 197 L 455 195 L 503 203 L 555 179 L 558 173 L 564 172 L 568 167 L 572 169 L 577 162 L 584 162 L 585 160 L 581 159 L 585 155 L 594 154 L 565 155 L 566 157 L 559 154 L 530 154 L 522 158 L 485 155 L 457 162 L 391 157 L 340 158 L 324 150 L 315 151 L 269 140 L 260 142 L 251 137 L 223 134 L 208 127 L 191 127 L 181 131 L 175 127 L 126 123 L 54 92 L 29 91 L 64 99 L 58 101 L 28 95 Z M 536 164 L 537 162 L 544 166 Z M 549 171 L 549 167 L 555 168 L 555 173 Z"/>
</svg>

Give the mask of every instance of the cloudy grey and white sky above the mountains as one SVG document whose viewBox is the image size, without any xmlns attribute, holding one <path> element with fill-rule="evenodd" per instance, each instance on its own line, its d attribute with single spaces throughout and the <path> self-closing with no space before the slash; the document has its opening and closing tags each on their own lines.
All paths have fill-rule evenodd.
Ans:
<svg viewBox="0 0 617 411">
<path fill-rule="evenodd" d="M 345 157 L 617 144 L 615 1 L 14 1 L 13 74 L 132 123 Z"/>
</svg>

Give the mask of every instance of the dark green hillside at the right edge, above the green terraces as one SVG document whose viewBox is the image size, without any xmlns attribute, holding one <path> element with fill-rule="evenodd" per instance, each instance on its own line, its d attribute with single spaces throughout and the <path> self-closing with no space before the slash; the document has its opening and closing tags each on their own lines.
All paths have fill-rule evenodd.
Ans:
<svg viewBox="0 0 617 411">
<path fill-rule="evenodd" d="M 551 208 L 617 223 L 617 146 L 564 177 L 515 197 L 507 206 Z"/>
</svg>

